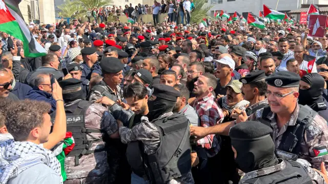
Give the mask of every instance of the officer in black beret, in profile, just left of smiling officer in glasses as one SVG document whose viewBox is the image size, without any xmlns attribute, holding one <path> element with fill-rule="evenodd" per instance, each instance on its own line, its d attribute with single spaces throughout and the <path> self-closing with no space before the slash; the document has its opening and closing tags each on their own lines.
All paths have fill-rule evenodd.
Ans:
<svg viewBox="0 0 328 184">
<path fill-rule="evenodd" d="M 248 116 L 268 105 L 268 100 L 265 99 L 265 91 L 268 87 L 265 82 L 266 77 L 264 71 L 261 70 L 251 72 L 239 79 L 242 83 L 241 94 L 244 100 L 250 102 L 250 105 L 246 108 Z"/>
</svg>

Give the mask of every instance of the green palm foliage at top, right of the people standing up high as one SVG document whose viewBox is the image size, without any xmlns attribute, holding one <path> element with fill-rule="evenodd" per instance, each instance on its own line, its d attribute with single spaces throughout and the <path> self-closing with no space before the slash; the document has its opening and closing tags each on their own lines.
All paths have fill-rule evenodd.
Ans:
<svg viewBox="0 0 328 184">
<path fill-rule="evenodd" d="M 208 0 L 194 0 L 195 9 L 191 12 L 191 23 L 199 24 L 203 18 L 210 18 L 213 5 L 207 4 Z"/>
</svg>

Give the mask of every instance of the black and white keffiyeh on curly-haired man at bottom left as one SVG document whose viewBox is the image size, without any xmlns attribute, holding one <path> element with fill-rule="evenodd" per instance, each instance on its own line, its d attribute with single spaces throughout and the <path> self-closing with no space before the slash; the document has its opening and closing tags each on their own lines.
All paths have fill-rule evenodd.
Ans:
<svg viewBox="0 0 328 184">
<path fill-rule="evenodd" d="M 0 154 L 0 183 L 7 183 L 10 178 L 39 163 L 53 169 L 63 183 L 59 161 L 42 145 L 10 139 L 0 144 Z"/>
</svg>

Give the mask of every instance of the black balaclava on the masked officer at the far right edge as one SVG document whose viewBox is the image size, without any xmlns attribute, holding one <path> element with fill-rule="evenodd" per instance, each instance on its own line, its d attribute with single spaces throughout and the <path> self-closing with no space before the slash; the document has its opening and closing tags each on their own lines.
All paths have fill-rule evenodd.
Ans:
<svg viewBox="0 0 328 184">
<path fill-rule="evenodd" d="M 317 73 L 309 73 L 304 75 L 301 80 L 311 86 L 310 89 L 299 90 L 298 103 L 300 105 L 308 105 L 312 109 L 316 107 L 316 101 L 322 99 L 322 91 L 324 87 L 324 79 Z"/>
</svg>

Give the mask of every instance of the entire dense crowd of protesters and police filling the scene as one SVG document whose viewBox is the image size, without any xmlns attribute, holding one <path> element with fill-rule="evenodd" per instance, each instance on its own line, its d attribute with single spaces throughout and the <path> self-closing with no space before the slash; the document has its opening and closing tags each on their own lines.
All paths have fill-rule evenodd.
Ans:
<svg viewBox="0 0 328 184">
<path fill-rule="evenodd" d="M 95 19 L 1 33 L 1 183 L 328 183 L 328 34 Z"/>
</svg>

